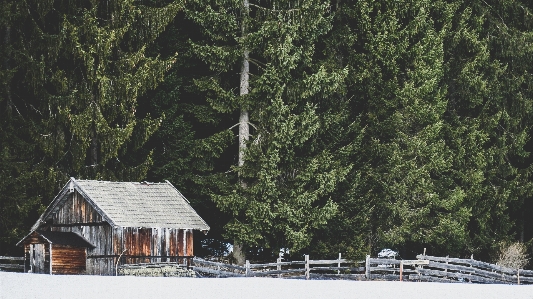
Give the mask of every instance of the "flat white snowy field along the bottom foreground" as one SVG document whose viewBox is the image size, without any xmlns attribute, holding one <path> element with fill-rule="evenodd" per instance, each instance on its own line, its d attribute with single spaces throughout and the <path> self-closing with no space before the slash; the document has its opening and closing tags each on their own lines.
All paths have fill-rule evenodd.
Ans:
<svg viewBox="0 0 533 299">
<path fill-rule="evenodd" d="M 533 299 L 533 285 L 305 281 L 276 278 L 50 276 L 0 272 L 0 298 Z"/>
</svg>

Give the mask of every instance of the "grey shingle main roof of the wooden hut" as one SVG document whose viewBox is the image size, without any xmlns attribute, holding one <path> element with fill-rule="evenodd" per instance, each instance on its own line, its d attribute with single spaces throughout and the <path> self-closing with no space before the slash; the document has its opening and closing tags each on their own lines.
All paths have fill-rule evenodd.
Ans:
<svg viewBox="0 0 533 299">
<path fill-rule="evenodd" d="M 168 181 L 137 183 L 74 178 L 56 196 L 32 230 L 46 222 L 74 190 L 114 226 L 209 230 L 189 201 Z"/>
</svg>

